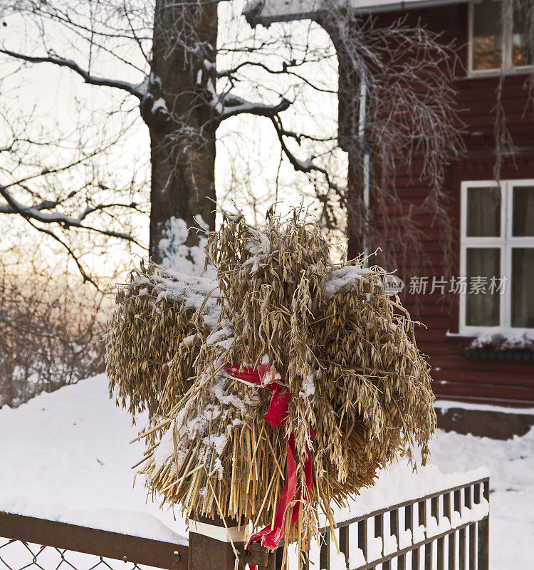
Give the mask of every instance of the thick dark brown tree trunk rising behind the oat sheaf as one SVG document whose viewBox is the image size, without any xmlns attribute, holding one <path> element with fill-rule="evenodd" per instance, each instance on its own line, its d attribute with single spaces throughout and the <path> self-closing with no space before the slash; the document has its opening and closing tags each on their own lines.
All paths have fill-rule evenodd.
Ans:
<svg viewBox="0 0 534 570">
<path fill-rule="evenodd" d="M 215 2 L 156 1 L 150 96 L 142 116 L 150 130 L 150 257 L 157 263 L 172 217 L 192 228 L 200 215 L 214 229 L 216 120 L 205 95 L 205 62 L 215 62 L 216 38 Z M 196 244 L 190 229 L 186 245 Z"/>
</svg>

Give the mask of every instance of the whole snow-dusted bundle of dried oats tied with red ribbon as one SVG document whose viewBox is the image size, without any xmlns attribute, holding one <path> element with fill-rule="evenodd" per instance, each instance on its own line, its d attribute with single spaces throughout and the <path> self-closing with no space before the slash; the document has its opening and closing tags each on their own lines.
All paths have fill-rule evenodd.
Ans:
<svg viewBox="0 0 534 570">
<path fill-rule="evenodd" d="M 304 550 L 397 453 L 426 461 L 429 366 L 386 272 L 332 264 L 314 224 L 225 219 L 206 254 L 214 280 L 142 264 L 120 287 L 110 393 L 148 410 L 139 469 L 164 502 Z"/>
</svg>

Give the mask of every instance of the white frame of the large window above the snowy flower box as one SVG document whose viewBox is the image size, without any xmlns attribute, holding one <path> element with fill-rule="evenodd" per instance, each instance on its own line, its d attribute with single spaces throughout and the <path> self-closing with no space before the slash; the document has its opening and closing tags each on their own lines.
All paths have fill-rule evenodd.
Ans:
<svg viewBox="0 0 534 570">
<path fill-rule="evenodd" d="M 468 180 L 461 183 L 460 199 L 460 276 L 467 276 L 468 248 L 491 247 L 501 250 L 501 276 L 507 276 L 504 284 L 505 293 L 499 295 L 500 324 L 498 326 L 467 326 L 466 325 L 466 298 L 468 293 L 459 295 L 459 333 L 465 336 L 479 336 L 482 334 L 503 334 L 505 336 L 520 336 L 526 334 L 534 338 L 534 328 L 518 328 L 511 324 L 512 318 L 512 249 L 514 247 L 534 248 L 534 236 L 514 237 L 512 235 L 513 187 L 534 186 L 534 179 L 518 180 Z M 501 188 L 501 235 L 499 237 L 473 237 L 467 235 L 467 192 L 468 188 L 500 187 Z"/>
</svg>

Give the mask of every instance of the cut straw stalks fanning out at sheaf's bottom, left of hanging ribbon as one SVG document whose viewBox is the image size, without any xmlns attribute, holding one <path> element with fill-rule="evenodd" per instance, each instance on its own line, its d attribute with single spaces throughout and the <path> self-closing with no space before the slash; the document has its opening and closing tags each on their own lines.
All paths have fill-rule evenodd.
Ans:
<svg viewBox="0 0 534 570">
<path fill-rule="evenodd" d="M 222 513 L 267 524 L 285 480 L 286 440 L 263 421 L 267 401 L 218 372 L 221 354 L 212 356 L 173 410 L 143 472 L 163 502 L 181 503 L 190 517 Z"/>
</svg>

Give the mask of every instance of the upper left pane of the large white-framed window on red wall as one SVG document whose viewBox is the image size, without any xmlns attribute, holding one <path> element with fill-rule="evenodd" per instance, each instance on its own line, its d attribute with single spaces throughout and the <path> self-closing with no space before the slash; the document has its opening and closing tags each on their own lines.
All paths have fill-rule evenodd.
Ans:
<svg viewBox="0 0 534 570">
<path fill-rule="evenodd" d="M 501 188 L 494 186 L 467 189 L 466 235 L 501 235 Z"/>
</svg>

